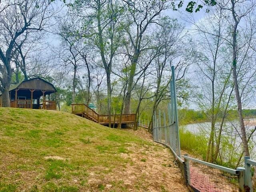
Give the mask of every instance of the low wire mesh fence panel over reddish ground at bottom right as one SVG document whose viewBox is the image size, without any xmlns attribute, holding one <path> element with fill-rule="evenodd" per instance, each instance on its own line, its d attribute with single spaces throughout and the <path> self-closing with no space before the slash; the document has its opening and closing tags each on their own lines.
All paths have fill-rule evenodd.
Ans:
<svg viewBox="0 0 256 192">
<path fill-rule="evenodd" d="M 186 159 L 187 184 L 200 192 L 238 192 L 238 174 Z M 235 172 L 236 170 L 234 170 Z"/>
</svg>

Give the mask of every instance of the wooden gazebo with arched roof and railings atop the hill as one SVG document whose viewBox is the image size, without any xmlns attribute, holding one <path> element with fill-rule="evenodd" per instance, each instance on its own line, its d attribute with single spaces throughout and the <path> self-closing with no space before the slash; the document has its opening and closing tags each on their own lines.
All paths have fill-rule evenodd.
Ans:
<svg viewBox="0 0 256 192">
<path fill-rule="evenodd" d="M 42 78 L 32 78 L 10 86 L 10 106 L 13 108 L 56 109 L 56 101 L 51 100 L 56 88 Z M 0 104 L 2 93 L 0 92 Z M 0 105 L 1 106 L 1 105 Z"/>
</svg>

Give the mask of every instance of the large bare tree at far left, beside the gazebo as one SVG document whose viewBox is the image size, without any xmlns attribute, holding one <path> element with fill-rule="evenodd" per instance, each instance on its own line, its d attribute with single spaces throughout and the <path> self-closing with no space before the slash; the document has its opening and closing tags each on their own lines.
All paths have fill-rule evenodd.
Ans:
<svg viewBox="0 0 256 192">
<path fill-rule="evenodd" d="M 11 59 L 16 53 L 15 45 L 24 40 L 26 32 L 37 33 L 49 25 L 53 16 L 48 0 L 12 0 L 0 4 L 0 90 L 2 106 L 10 106 L 9 88 L 13 69 Z"/>
</svg>

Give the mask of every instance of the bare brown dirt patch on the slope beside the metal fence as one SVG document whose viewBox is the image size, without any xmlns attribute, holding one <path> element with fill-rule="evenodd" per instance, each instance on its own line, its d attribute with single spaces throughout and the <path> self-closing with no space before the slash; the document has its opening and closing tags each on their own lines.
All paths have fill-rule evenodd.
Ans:
<svg viewBox="0 0 256 192">
<path fill-rule="evenodd" d="M 135 131 L 134 134 L 152 142 L 152 136 L 144 128 Z M 133 153 L 124 155 L 129 156 L 134 164 L 125 168 L 124 172 L 120 170 L 118 174 L 126 174 L 127 180 L 124 182 L 130 186 L 136 182 L 142 183 L 140 191 L 188 192 L 170 150 L 160 144 L 154 143 L 154 145 L 142 148 L 129 147 Z M 131 188 L 130 191 L 133 189 Z"/>
</svg>

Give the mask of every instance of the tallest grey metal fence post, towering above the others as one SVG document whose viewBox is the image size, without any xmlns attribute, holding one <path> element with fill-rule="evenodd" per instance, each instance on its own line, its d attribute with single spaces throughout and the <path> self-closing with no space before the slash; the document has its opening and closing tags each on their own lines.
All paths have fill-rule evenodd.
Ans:
<svg viewBox="0 0 256 192">
<path fill-rule="evenodd" d="M 178 107 L 177 107 L 177 98 L 176 98 L 176 83 L 175 83 L 175 69 L 174 66 L 171 66 L 172 68 L 172 83 L 173 83 L 173 100 L 174 100 L 174 119 L 175 119 L 175 128 L 176 128 L 176 137 L 177 137 L 177 154 L 179 157 L 181 157 L 180 153 L 180 134 L 179 134 L 179 121 L 178 121 Z"/>
</svg>

